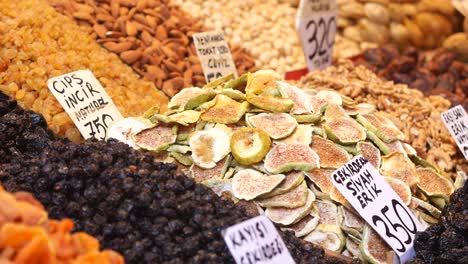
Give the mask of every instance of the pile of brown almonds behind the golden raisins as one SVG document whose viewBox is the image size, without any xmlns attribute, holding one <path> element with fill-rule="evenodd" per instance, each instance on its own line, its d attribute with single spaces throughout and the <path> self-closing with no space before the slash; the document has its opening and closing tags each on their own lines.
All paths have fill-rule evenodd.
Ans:
<svg viewBox="0 0 468 264">
<path fill-rule="evenodd" d="M 192 34 L 206 29 L 177 4 L 168 0 L 49 2 L 168 96 L 205 84 Z M 240 74 L 253 70 L 254 60 L 245 51 L 232 46 L 231 52 Z"/>
</svg>

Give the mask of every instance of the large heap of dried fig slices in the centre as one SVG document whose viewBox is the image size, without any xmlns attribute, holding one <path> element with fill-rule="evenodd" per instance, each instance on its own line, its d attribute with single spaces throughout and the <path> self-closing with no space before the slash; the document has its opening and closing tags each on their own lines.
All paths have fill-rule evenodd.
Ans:
<svg viewBox="0 0 468 264">
<path fill-rule="evenodd" d="M 368 159 L 426 226 L 460 185 L 374 105 L 300 89 L 271 70 L 186 88 L 168 107 L 115 122 L 108 137 L 177 161 L 216 193 L 253 202 L 283 230 L 354 258 L 383 262 L 390 249 L 331 182 L 353 156 Z"/>
</svg>

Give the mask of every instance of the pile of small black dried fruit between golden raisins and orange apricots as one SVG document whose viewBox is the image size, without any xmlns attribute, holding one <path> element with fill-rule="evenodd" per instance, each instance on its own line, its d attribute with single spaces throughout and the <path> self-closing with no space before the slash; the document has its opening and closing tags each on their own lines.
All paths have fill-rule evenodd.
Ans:
<svg viewBox="0 0 468 264">
<path fill-rule="evenodd" d="M 56 139 L 42 116 L 0 94 L 0 181 L 28 191 L 51 218 L 72 218 L 128 263 L 233 263 L 221 231 L 248 219 L 176 166 L 125 144 Z M 339 263 L 281 232 L 297 263 Z"/>
</svg>

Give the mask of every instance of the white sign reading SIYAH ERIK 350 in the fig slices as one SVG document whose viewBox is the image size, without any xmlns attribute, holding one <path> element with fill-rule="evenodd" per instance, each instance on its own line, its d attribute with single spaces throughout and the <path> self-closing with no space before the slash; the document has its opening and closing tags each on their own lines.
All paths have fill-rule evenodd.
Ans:
<svg viewBox="0 0 468 264">
<path fill-rule="evenodd" d="M 332 173 L 333 185 L 404 263 L 414 255 L 416 232 L 422 230 L 410 209 L 362 155 Z"/>
</svg>

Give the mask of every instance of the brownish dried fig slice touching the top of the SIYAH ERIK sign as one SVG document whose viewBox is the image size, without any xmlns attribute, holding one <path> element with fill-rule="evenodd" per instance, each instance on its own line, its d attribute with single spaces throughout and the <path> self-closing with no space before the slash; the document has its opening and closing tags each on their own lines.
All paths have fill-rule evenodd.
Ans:
<svg viewBox="0 0 468 264">
<path fill-rule="evenodd" d="M 312 149 L 319 155 L 320 168 L 337 169 L 350 160 L 348 152 L 319 136 L 313 136 Z"/>
</svg>

